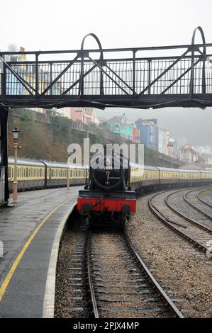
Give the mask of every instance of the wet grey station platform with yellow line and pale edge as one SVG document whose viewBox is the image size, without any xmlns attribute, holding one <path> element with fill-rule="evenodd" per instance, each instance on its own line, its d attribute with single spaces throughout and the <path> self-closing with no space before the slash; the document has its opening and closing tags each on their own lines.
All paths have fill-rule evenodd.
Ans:
<svg viewBox="0 0 212 333">
<path fill-rule="evenodd" d="M 60 237 L 82 188 L 26 191 L 15 207 L 1 208 L 1 318 L 53 317 Z"/>
</svg>

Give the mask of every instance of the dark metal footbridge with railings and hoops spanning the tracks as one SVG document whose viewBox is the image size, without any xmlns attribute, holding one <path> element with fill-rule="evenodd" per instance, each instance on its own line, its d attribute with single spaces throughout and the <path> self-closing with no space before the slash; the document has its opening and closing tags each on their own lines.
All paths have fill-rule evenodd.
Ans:
<svg viewBox="0 0 212 333">
<path fill-rule="evenodd" d="M 198 45 L 197 30 L 203 40 Z M 96 39 L 99 49 L 84 50 L 88 36 Z M 11 106 L 99 108 L 211 103 L 212 44 L 205 43 L 201 27 L 194 30 L 191 45 L 103 50 L 96 35 L 89 34 L 84 40 L 81 50 L 0 52 L 0 101 Z M 67 59 L 58 60 L 58 55 Z M 34 60 L 26 61 L 26 56 Z M 16 57 L 16 61 L 11 61 L 11 57 Z"/>
</svg>

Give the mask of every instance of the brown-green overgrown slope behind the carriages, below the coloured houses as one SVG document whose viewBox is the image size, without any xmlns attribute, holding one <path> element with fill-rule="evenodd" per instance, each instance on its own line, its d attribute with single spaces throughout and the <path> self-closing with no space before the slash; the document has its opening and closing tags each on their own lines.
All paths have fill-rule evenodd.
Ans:
<svg viewBox="0 0 212 333">
<path fill-rule="evenodd" d="M 36 115 L 36 117 L 35 117 Z M 39 121 L 34 111 L 16 108 L 9 113 L 9 156 L 13 155 L 13 136 L 11 130 L 20 130 L 18 157 L 46 159 L 67 162 L 67 147 L 71 143 L 83 144 L 87 133 L 74 130 L 72 120 L 58 115 L 48 115 L 47 121 Z M 102 134 L 89 135 L 90 145 L 107 143 Z M 126 142 L 118 137 L 118 144 Z M 129 142 L 130 143 L 130 142 Z M 145 164 L 163 166 L 158 152 L 145 147 Z"/>
</svg>

